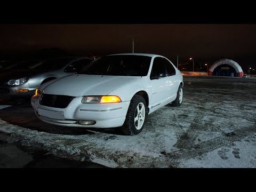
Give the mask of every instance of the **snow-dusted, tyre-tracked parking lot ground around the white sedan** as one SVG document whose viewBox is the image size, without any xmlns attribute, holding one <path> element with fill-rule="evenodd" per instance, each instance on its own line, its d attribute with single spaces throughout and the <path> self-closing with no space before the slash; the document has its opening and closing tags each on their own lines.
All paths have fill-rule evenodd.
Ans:
<svg viewBox="0 0 256 192">
<path fill-rule="evenodd" d="M 108 167 L 256 167 L 256 78 L 184 76 L 181 107 L 135 136 L 40 121 L 29 101 L 0 100 L 0 131 L 58 157 Z"/>
</svg>

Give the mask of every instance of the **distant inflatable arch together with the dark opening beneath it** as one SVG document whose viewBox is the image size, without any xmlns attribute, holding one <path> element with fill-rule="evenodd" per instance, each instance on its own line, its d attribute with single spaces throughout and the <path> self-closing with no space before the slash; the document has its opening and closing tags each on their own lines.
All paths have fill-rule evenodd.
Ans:
<svg viewBox="0 0 256 192">
<path fill-rule="evenodd" d="M 231 59 L 221 59 L 213 63 L 208 70 L 208 75 L 243 77 L 244 73 L 237 62 Z"/>
</svg>

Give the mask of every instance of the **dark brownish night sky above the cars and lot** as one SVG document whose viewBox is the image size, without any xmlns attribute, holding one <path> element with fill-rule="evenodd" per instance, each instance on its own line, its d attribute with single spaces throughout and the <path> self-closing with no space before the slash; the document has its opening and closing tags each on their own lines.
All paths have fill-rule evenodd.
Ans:
<svg viewBox="0 0 256 192">
<path fill-rule="evenodd" d="M 79 24 L 0 25 L 0 51 L 57 47 L 77 55 L 132 52 L 164 55 L 176 63 L 189 57 L 206 63 L 228 58 L 256 67 L 256 25 Z"/>
</svg>

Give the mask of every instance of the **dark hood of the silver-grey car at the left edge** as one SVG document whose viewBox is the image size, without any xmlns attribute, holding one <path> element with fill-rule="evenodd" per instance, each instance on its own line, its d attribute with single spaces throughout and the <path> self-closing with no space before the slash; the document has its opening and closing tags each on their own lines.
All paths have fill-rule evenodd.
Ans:
<svg viewBox="0 0 256 192">
<path fill-rule="evenodd" d="M 22 77 L 31 77 L 36 74 L 44 73 L 47 70 L 35 70 L 35 69 L 20 69 L 20 70 L 11 70 L 11 71 L 0 71 L 0 84 L 5 84 L 11 79 L 18 79 Z"/>
</svg>

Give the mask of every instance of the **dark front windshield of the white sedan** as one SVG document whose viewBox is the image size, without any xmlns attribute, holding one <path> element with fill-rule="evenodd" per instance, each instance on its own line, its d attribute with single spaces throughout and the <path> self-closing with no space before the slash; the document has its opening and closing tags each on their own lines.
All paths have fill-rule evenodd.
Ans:
<svg viewBox="0 0 256 192">
<path fill-rule="evenodd" d="M 151 57 L 143 55 L 109 55 L 84 67 L 79 74 L 146 76 Z"/>
</svg>

